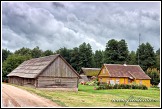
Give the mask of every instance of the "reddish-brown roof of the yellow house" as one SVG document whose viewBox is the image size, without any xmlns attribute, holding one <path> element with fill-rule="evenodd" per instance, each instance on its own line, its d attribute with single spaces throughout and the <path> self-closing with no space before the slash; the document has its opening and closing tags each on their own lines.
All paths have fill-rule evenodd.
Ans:
<svg viewBox="0 0 162 109">
<path fill-rule="evenodd" d="M 135 79 L 151 79 L 139 65 L 104 64 L 110 77 L 131 77 Z"/>
</svg>

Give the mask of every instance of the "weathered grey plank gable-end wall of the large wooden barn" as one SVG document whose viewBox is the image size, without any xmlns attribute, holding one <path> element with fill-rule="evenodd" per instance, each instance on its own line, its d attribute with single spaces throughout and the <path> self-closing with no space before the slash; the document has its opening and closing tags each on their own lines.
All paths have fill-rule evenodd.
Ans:
<svg viewBox="0 0 162 109">
<path fill-rule="evenodd" d="M 78 86 L 78 76 L 60 57 L 38 76 L 37 81 L 37 87 Z"/>
</svg>

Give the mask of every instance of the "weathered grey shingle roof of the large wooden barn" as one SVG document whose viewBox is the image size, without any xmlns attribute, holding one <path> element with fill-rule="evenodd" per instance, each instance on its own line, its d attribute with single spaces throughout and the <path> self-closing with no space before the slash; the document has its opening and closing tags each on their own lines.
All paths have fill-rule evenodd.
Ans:
<svg viewBox="0 0 162 109">
<path fill-rule="evenodd" d="M 54 60 L 58 56 L 60 56 L 62 58 L 61 55 L 56 54 L 56 55 L 50 55 L 50 56 L 34 58 L 34 59 L 30 59 L 28 61 L 24 61 L 16 69 L 14 69 L 11 73 L 9 73 L 7 76 L 18 76 L 18 77 L 22 77 L 22 78 L 36 78 L 44 69 L 46 69 L 48 67 L 48 65 L 50 65 L 50 63 L 54 62 Z M 69 65 L 69 67 L 71 67 L 71 66 Z M 76 71 L 73 68 L 72 68 L 72 70 L 76 73 Z"/>
</svg>

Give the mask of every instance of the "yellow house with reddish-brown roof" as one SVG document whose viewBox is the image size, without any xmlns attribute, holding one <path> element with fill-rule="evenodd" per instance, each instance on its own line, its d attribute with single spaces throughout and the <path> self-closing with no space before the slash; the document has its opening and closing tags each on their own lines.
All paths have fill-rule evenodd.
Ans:
<svg viewBox="0 0 162 109">
<path fill-rule="evenodd" d="M 150 77 L 139 65 L 104 64 L 98 74 L 100 82 L 109 84 L 143 84 L 150 87 Z"/>
</svg>

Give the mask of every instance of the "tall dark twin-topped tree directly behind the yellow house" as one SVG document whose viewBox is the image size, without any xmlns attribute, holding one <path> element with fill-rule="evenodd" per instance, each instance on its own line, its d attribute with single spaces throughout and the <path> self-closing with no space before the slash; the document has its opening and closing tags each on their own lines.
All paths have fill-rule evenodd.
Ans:
<svg viewBox="0 0 162 109">
<path fill-rule="evenodd" d="M 115 39 L 111 39 L 106 44 L 104 53 L 104 62 L 111 64 L 123 64 L 128 58 L 128 47 L 124 39 L 119 42 Z"/>
</svg>

